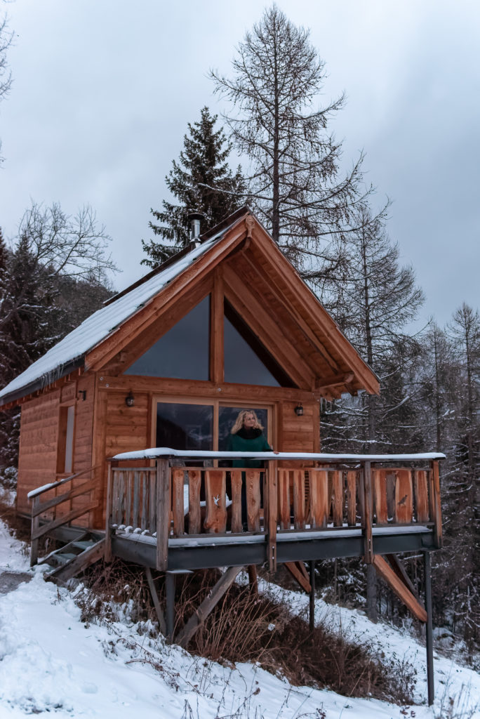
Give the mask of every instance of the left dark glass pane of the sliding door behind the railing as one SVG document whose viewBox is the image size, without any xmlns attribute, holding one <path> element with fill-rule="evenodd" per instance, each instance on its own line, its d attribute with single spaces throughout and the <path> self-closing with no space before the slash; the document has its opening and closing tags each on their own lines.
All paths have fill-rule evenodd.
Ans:
<svg viewBox="0 0 480 719">
<path fill-rule="evenodd" d="M 213 449 L 213 406 L 157 403 L 157 447 Z"/>
</svg>

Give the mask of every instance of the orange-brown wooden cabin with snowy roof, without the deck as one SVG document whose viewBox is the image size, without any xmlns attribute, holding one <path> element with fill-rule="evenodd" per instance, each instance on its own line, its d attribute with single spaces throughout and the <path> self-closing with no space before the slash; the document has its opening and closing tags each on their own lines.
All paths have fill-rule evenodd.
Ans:
<svg viewBox="0 0 480 719">
<path fill-rule="evenodd" d="M 226 449 L 244 407 L 274 449 L 318 452 L 321 398 L 378 393 L 374 372 L 247 209 L 197 244 L 1 390 L 4 406 L 22 406 L 19 512 L 30 513 L 36 487 L 96 467 L 98 507 L 83 521 L 103 528 L 107 457 Z"/>
</svg>

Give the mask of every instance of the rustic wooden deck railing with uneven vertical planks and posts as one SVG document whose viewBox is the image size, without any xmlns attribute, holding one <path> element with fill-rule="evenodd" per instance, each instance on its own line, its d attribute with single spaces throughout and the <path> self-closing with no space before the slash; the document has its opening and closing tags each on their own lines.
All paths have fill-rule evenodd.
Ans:
<svg viewBox="0 0 480 719">
<path fill-rule="evenodd" d="M 160 450 L 147 450 L 142 457 L 152 457 L 148 452 Z M 262 455 L 262 469 L 233 469 L 201 466 L 201 457 L 193 452 L 175 452 L 170 458 L 167 450 L 162 452 L 149 467 L 132 467 L 136 455 L 109 462 L 107 508 L 107 534 L 156 538 L 159 569 L 167 567 L 169 539 L 209 533 L 231 536 L 232 541 L 245 532 L 263 533 L 272 568 L 280 533 L 361 528 L 367 562 L 375 527 L 426 525 L 435 544 L 441 544 L 440 454 L 268 453 Z M 209 454 L 209 464 L 225 458 L 199 454 Z M 178 464 L 179 455 L 189 464 L 194 459 L 195 466 L 171 466 Z M 230 453 L 232 457 L 245 455 Z"/>
</svg>

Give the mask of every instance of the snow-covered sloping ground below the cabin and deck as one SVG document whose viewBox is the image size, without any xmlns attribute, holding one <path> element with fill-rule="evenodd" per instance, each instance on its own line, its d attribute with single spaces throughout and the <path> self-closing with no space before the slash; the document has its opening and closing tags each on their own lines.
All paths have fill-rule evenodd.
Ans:
<svg viewBox="0 0 480 719">
<path fill-rule="evenodd" d="M 29 572 L 22 545 L 0 522 L 0 573 Z M 433 719 L 480 718 L 480 676 L 437 656 L 435 705 L 399 707 L 351 699 L 327 690 L 291 687 L 252 664 L 235 669 L 193 657 L 137 632 L 136 626 L 84 625 L 67 590 L 32 580 L 0 595 L 0 718 L 50 712 L 56 718 L 101 719 Z M 278 590 L 262 585 L 265 592 Z M 307 597 L 285 592 L 292 609 Z M 384 654 L 417 667 L 417 700 L 425 702 L 425 648 L 406 631 L 369 623 L 356 611 L 318 601 L 326 615 Z M 453 703 L 452 703 L 453 702 Z M 476 708 L 475 708 L 476 707 Z"/>
</svg>

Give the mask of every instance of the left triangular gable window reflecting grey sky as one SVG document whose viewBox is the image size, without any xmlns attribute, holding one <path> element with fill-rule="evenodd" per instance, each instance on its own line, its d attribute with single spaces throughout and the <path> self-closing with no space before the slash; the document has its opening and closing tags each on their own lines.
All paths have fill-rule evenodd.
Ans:
<svg viewBox="0 0 480 719">
<path fill-rule="evenodd" d="M 160 337 L 125 374 L 208 380 L 209 326 L 210 296 Z"/>
</svg>

